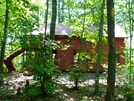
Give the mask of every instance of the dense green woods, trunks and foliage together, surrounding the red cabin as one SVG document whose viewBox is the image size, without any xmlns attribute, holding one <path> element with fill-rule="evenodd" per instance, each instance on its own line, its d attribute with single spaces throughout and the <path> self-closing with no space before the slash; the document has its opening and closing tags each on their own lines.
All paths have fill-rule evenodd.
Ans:
<svg viewBox="0 0 134 101">
<path fill-rule="evenodd" d="M 95 44 L 98 43 L 96 58 L 95 89 L 92 96 L 101 89 L 105 92 L 105 101 L 133 101 L 134 100 L 134 0 L 1 0 L 0 1 L 0 86 L 5 85 L 5 74 L 8 72 L 3 60 L 14 52 L 26 48 L 23 54 L 13 59 L 16 72 L 23 72 L 24 65 L 33 66 L 29 72 L 34 75 L 36 83 L 25 87 L 26 95 L 36 95 L 48 98 L 59 96 L 55 94 L 56 84 L 54 78 L 64 78 L 64 74 L 56 69 L 52 50 L 57 43 L 55 38 L 55 24 L 62 23 L 70 26 L 75 35 Z M 39 27 L 45 24 L 45 32 L 33 35 Z M 47 25 L 50 24 L 50 35 L 47 36 Z M 125 64 L 116 69 L 115 50 L 115 24 L 120 25 L 127 33 L 125 47 Z M 105 28 L 104 25 L 108 27 Z M 86 26 L 97 26 L 97 31 L 87 32 Z M 108 31 L 108 40 L 104 38 L 103 30 Z M 94 33 L 94 34 L 93 34 Z M 35 37 L 33 37 L 35 36 Z M 71 37 L 71 36 L 70 36 Z M 99 68 L 101 64 L 102 40 L 109 44 L 107 72 L 107 87 L 100 88 Z M 38 44 L 40 43 L 40 44 Z M 58 43 L 59 44 L 59 43 Z M 79 56 L 80 56 L 79 52 Z M 30 60 L 30 61 L 29 61 Z M 78 57 L 79 62 L 79 57 Z M 74 90 L 79 90 L 79 77 L 83 75 L 76 71 L 68 73 L 75 85 Z M 88 77 L 88 76 L 87 76 Z M 118 79 L 123 84 L 115 85 Z M 84 79 L 83 79 L 84 80 Z M 115 88 L 123 89 L 124 95 L 116 94 Z M 18 88 L 20 89 L 20 88 Z M 18 91 L 17 89 L 17 91 Z M 90 91 L 89 91 L 90 92 Z M 87 92 L 87 93 L 89 93 Z M 2 92 L 0 91 L 0 94 Z M 4 94 L 5 95 L 5 94 Z M 45 99 L 44 98 L 44 99 Z M 117 99 L 119 98 L 119 99 Z M 6 99 L 0 99 L 6 100 Z M 61 100 L 57 100 L 61 101 Z M 75 101 L 75 100 L 74 100 Z M 81 101 L 96 101 L 86 98 Z M 102 101 L 102 100 L 101 100 Z"/>
</svg>

